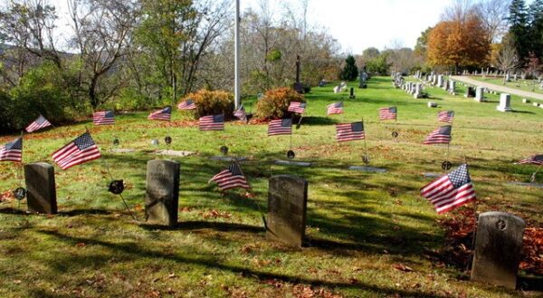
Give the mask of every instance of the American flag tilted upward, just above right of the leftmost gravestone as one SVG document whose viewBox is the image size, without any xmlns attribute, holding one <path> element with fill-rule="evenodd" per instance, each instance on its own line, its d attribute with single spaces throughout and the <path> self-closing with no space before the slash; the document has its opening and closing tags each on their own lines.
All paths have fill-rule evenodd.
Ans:
<svg viewBox="0 0 543 298">
<path fill-rule="evenodd" d="M 66 169 L 90 160 L 100 159 L 100 156 L 100 149 L 90 137 L 90 133 L 85 132 L 52 153 L 52 160 L 62 169 Z"/>
</svg>

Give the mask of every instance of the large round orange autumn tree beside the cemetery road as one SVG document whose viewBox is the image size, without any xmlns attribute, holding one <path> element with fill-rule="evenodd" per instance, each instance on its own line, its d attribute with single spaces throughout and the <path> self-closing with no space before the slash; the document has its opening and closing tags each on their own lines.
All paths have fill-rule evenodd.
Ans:
<svg viewBox="0 0 543 298">
<path fill-rule="evenodd" d="M 491 44 L 481 19 L 468 16 L 465 21 L 443 21 L 428 35 L 427 61 L 433 66 L 459 67 L 487 64 Z"/>
</svg>

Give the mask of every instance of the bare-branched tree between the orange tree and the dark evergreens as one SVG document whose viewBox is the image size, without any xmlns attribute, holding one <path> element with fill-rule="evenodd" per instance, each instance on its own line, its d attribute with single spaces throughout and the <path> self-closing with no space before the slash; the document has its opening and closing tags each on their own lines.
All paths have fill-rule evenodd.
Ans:
<svg viewBox="0 0 543 298">
<path fill-rule="evenodd" d="M 475 5 L 476 13 L 481 16 L 491 43 L 499 43 L 501 37 L 507 33 L 509 7 L 510 0 L 481 0 Z"/>
</svg>

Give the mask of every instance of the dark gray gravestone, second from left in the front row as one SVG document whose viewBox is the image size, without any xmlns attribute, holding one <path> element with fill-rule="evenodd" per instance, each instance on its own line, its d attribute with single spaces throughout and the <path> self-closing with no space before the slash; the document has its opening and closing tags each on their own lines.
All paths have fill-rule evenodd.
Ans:
<svg viewBox="0 0 543 298">
<path fill-rule="evenodd" d="M 148 161 L 145 218 L 151 225 L 175 226 L 179 204 L 179 163 Z"/>
</svg>

